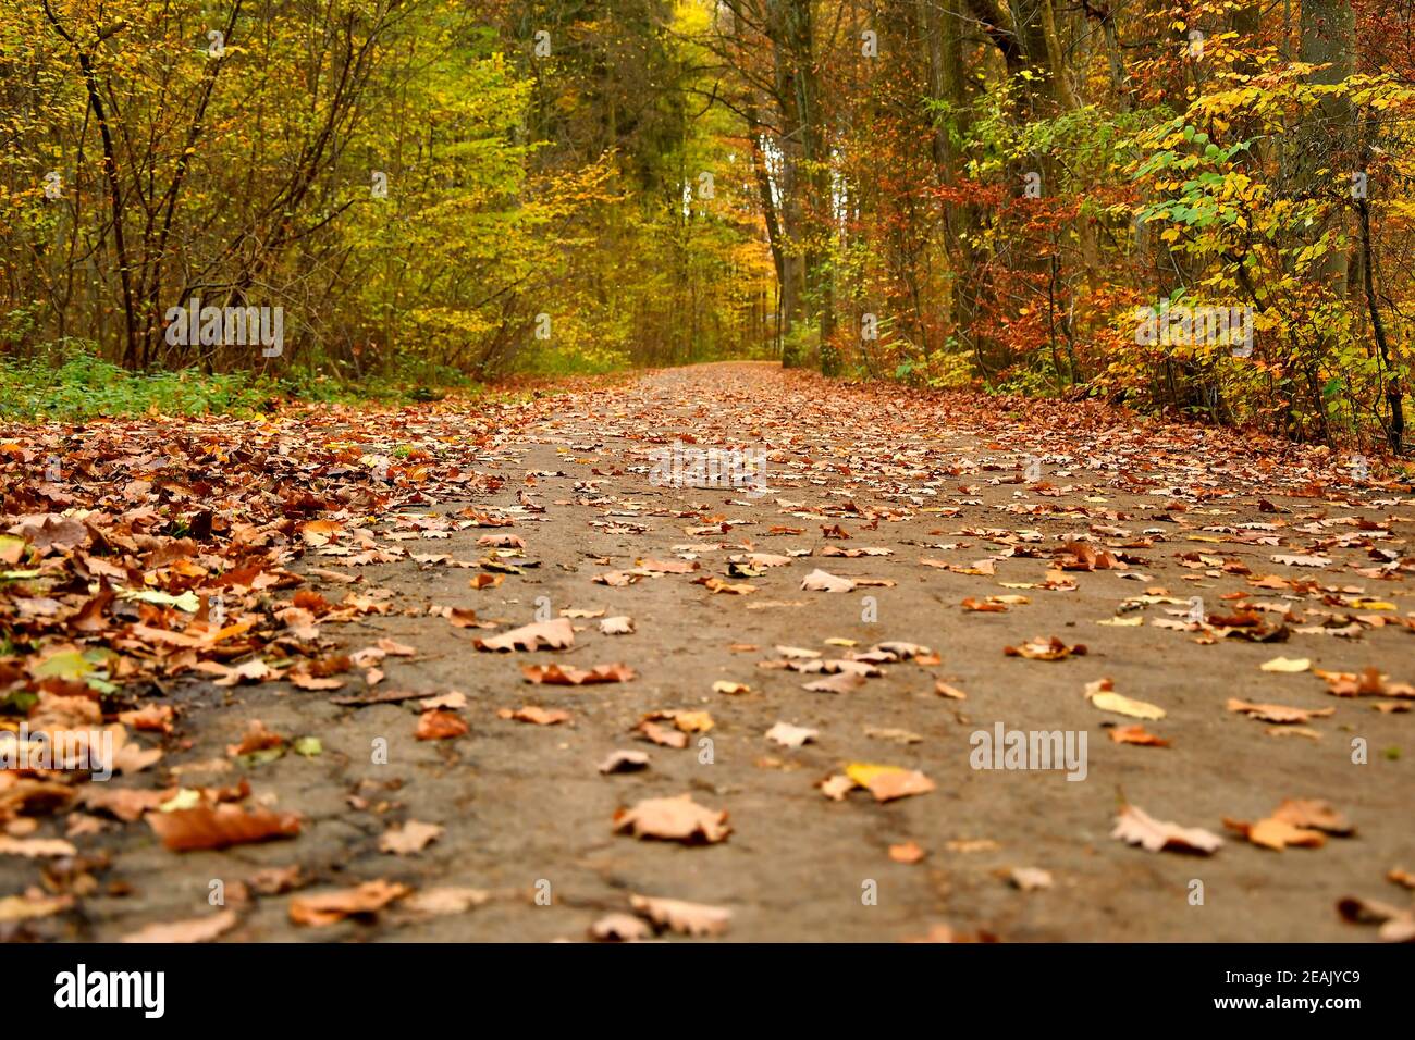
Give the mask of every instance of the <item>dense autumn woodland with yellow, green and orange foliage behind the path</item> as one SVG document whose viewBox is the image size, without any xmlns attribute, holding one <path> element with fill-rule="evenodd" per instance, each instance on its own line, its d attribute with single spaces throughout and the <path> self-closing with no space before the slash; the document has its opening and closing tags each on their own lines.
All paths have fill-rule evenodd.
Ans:
<svg viewBox="0 0 1415 1040">
<path fill-rule="evenodd" d="M 1412 115 L 1411 0 L 6 0 L 0 349 L 780 357 L 1399 450 Z M 168 344 L 192 296 L 284 354 Z M 1138 345 L 1162 299 L 1252 357 Z"/>
</svg>

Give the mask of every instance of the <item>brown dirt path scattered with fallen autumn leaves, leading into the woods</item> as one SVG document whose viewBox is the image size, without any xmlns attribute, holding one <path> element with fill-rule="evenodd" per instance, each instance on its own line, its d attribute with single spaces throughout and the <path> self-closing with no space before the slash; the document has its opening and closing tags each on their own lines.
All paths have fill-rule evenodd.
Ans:
<svg viewBox="0 0 1415 1040">
<path fill-rule="evenodd" d="M 112 781 L 163 788 L 248 777 L 248 804 L 299 812 L 300 836 L 178 853 L 142 822 L 105 819 L 72 839 L 110 857 L 98 886 L 81 894 L 78 911 L 31 927 L 41 937 L 112 940 L 201 918 L 215 911 L 208 894 L 221 879 L 238 911 L 224 941 L 577 940 L 606 914 L 628 911 L 633 893 L 727 908 L 726 937 L 747 941 L 893 941 L 935 925 L 1005 941 L 1374 938 L 1374 928 L 1343 923 L 1336 903 L 1409 903 L 1385 874 L 1415 869 L 1415 723 L 1397 710 L 1415 703 L 1399 685 L 1415 679 L 1415 502 L 1401 488 L 1358 487 L 1347 461 L 1320 453 L 1108 420 L 1071 405 L 1026 415 L 999 408 L 713 365 L 508 409 L 507 424 L 474 453 L 491 478 L 480 490 L 405 509 L 402 522 L 364 524 L 354 512 L 342 531 L 316 531 L 289 553 L 289 570 L 330 603 L 352 590 L 392 604 L 344 624 L 330 618 L 318 632 L 344 652 L 391 640 L 383 647 L 393 652 L 358 662 L 385 674 L 378 685 L 369 689 L 359 668 L 338 691 L 276 681 L 222 688 L 190 676 L 164 683 L 180 715 L 161 739 L 161 764 Z M 416 423 L 391 430 L 400 441 L 417 434 Z M 766 494 L 651 481 L 651 453 L 675 439 L 767 449 Z M 512 524 L 474 526 L 477 516 Z M 371 541 L 351 541 L 354 528 Z M 478 538 L 497 535 L 524 539 L 524 555 L 504 560 L 522 573 L 473 589 L 468 579 L 494 574 L 477 563 L 490 552 Z M 400 557 L 362 556 L 369 545 Z M 836 552 L 850 555 L 828 555 Z M 785 559 L 754 563 L 746 553 Z M 359 556 L 352 566 L 351 555 Z M 746 569 L 732 573 L 733 557 Z M 696 569 L 659 573 L 664 563 Z M 816 569 L 880 583 L 802 590 Z M 596 582 L 607 573 L 627 583 Z M 703 579 L 727 587 L 713 591 Z M 596 614 L 572 614 L 573 647 L 474 647 L 536 621 L 541 597 L 542 618 Z M 988 597 L 1022 599 L 999 599 L 993 610 L 961 606 Z M 1203 599 L 1203 624 L 1186 620 L 1190 597 Z M 458 627 L 429 613 L 439 608 L 497 624 Z M 635 631 L 601 634 L 599 611 L 631 617 Z M 468 617 L 458 614 L 463 624 Z M 1101 624 L 1111 621 L 1122 624 Z M 1032 637 L 1087 652 L 1060 661 L 1005 652 Z M 906 648 L 917 659 L 884 659 L 882 675 L 842 692 L 804 689 L 828 672 L 782 666 L 890 642 L 917 644 Z M 790 658 L 778 647 L 822 657 Z M 1332 696 L 1340 679 L 1261 668 L 1275 658 L 1327 672 L 1375 668 L 1388 682 L 1370 696 Z M 634 678 L 524 681 L 522 666 L 538 664 L 624 664 Z M 1102 710 L 1105 699 L 1092 703 L 1085 691 L 1105 678 L 1165 717 Z M 750 691 L 720 692 L 717 682 Z M 940 682 L 966 699 L 941 695 Z M 848 676 L 833 683 L 843 688 Z M 416 739 L 412 699 L 331 703 L 391 691 L 460 692 L 466 706 L 450 715 L 467 733 Z M 1334 715 L 1278 724 L 1228 710 L 1231 698 Z M 498 717 L 525 705 L 570 720 Z M 708 713 L 712 727 L 693 729 L 706 720 L 692 715 L 676 720 L 686 733 L 659 720 L 661 739 L 678 733 L 686 743 L 661 746 L 635 732 L 661 710 Z M 323 750 L 232 768 L 226 749 L 250 720 L 291 740 L 318 737 Z M 816 736 L 782 747 L 764 736 L 778 722 Z M 999 723 L 1084 733 L 1084 780 L 1067 780 L 1065 770 L 974 768 L 974 734 Z M 1111 739 L 1112 727 L 1133 724 L 1169 746 Z M 1364 764 L 1353 763 L 1353 739 L 1365 741 Z M 379 740 L 386 764 L 372 760 Z M 616 749 L 648 753 L 648 768 L 601 774 Z M 167 771 L 202 763 L 214 771 L 181 770 L 175 780 Z M 932 790 L 884 802 L 860 788 L 828 798 L 819 782 L 849 763 L 918 770 Z M 682 794 L 726 811 L 730 836 L 683 845 L 614 832 L 617 809 Z M 1111 833 L 1122 799 L 1224 845 L 1207 856 L 1126 845 Z M 1356 833 L 1303 819 L 1303 840 L 1322 848 L 1279 852 L 1224 826 L 1225 818 L 1268 818 L 1285 799 L 1324 799 Z M 444 831 L 415 855 L 382 852 L 385 831 L 408 819 Z M 38 833 L 64 831 L 55 821 Z M 891 846 L 907 843 L 923 852 L 920 862 L 891 857 Z M 290 865 L 301 867 L 297 891 L 242 899 L 242 882 Z M 1047 872 L 1050 887 L 1020 890 L 1006 877 L 1013 867 Z M 40 883 L 40 862 L 0 856 L 0 896 Z M 446 913 L 436 900 L 403 899 L 371 920 L 290 923 L 291 899 L 376 879 L 417 893 L 471 887 L 485 900 Z"/>
</svg>

